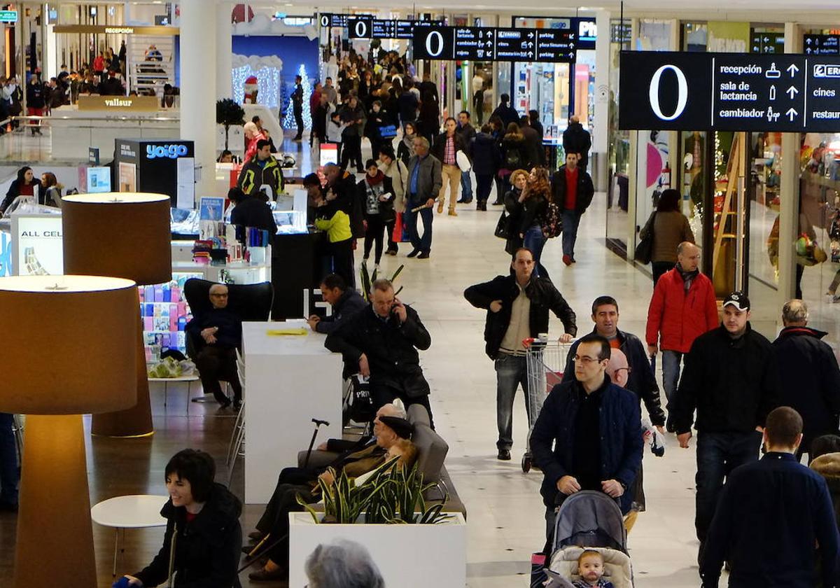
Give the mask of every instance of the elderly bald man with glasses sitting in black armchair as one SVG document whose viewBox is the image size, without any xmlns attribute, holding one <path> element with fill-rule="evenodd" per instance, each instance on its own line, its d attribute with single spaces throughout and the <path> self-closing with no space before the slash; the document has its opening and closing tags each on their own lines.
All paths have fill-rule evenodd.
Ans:
<svg viewBox="0 0 840 588">
<path fill-rule="evenodd" d="M 234 409 L 242 406 L 242 386 L 236 373 L 236 349 L 242 346 L 242 319 L 228 308 L 228 286 L 210 286 L 210 303 L 213 308 L 186 324 L 186 332 L 203 341 L 201 349 L 192 358 L 198 368 L 204 393 L 213 393 L 221 408 L 230 406 L 231 400 L 222 391 L 219 381 L 230 384 L 234 390 Z"/>
</svg>

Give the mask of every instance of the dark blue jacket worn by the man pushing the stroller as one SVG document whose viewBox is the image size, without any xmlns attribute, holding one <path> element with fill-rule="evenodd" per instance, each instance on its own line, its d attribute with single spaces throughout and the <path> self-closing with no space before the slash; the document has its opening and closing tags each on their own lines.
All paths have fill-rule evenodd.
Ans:
<svg viewBox="0 0 840 588">
<path fill-rule="evenodd" d="M 632 486 L 642 464 L 643 439 L 639 423 L 638 396 L 617 386 L 604 375 L 601 398 L 601 480 L 618 480 Z M 543 403 L 531 433 L 533 461 L 543 470 L 539 493 L 543 504 L 552 508 L 557 498 L 557 481 L 575 475 L 575 418 L 585 391 L 579 381 L 554 386 Z M 554 445 L 554 448 L 552 448 Z"/>
</svg>

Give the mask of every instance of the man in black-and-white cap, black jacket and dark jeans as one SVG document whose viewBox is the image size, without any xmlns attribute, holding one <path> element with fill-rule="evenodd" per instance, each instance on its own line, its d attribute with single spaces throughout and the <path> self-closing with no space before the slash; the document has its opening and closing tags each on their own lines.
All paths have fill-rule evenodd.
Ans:
<svg viewBox="0 0 840 588">
<path fill-rule="evenodd" d="M 724 478 L 759 459 L 764 421 L 781 397 L 773 345 L 750 327 L 749 309 L 743 292 L 726 298 L 721 326 L 695 339 L 685 356 L 671 402 L 680 447 L 688 448 L 692 423 L 697 429 L 695 528 L 700 557 Z"/>
</svg>

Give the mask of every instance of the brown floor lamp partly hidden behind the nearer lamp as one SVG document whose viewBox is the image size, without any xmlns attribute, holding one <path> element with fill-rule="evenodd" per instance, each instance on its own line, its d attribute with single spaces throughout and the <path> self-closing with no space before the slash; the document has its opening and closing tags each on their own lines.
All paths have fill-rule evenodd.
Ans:
<svg viewBox="0 0 840 588">
<path fill-rule="evenodd" d="M 107 192 L 66 196 L 61 201 L 65 273 L 126 278 L 139 286 L 172 279 L 170 197 Z M 94 415 L 94 435 L 154 433 L 139 302 L 136 311 L 137 403 L 125 411 Z M 122 328 L 129 328 L 129 323 Z"/>
</svg>

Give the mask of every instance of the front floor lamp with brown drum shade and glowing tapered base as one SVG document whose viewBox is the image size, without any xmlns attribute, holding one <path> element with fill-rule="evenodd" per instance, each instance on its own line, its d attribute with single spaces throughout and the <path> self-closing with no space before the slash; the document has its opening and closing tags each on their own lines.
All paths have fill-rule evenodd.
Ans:
<svg viewBox="0 0 840 588">
<path fill-rule="evenodd" d="M 134 405 L 134 281 L 0 280 L 0 411 L 26 414 L 13 587 L 97 585 L 81 415 Z M 107 349 L 103 353 L 103 349 Z"/>
</svg>

